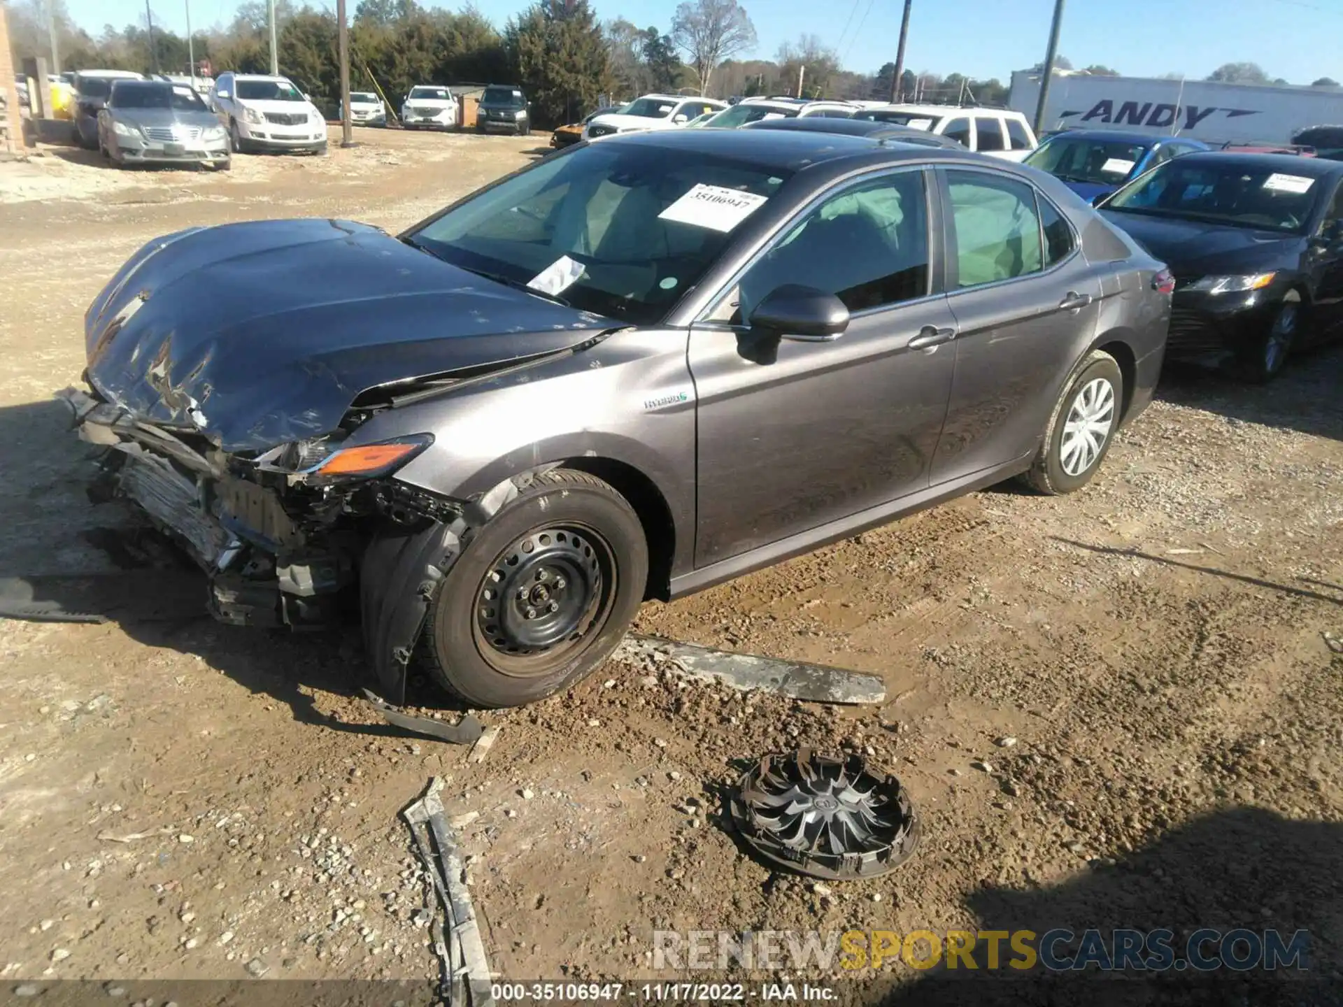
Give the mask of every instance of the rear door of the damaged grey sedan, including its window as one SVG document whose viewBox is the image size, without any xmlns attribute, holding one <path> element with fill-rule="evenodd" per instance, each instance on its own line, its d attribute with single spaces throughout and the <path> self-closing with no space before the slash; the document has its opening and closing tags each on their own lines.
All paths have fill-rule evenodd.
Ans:
<svg viewBox="0 0 1343 1007">
<path fill-rule="evenodd" d="M 1104 267 L 1035 187 L 991 168 L 937 172 L 956 373 L 932 483 L 1034 451 L 1095 338 Z"/>
</svg>

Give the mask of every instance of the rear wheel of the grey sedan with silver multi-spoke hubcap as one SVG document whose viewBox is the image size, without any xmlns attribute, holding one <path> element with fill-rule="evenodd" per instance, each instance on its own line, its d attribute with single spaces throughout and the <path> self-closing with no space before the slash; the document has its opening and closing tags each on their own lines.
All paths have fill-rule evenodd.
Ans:
<svg viewBox="0 0 1343 1007">
<path fill-rule="evenodd" d="M 1091 482 L 1119 430 L 1123 401 L 1119 364 L 1109 353 L 1093 350 L 1054 405 L 1026 482 L 1052 497 Z"/>
</svg>

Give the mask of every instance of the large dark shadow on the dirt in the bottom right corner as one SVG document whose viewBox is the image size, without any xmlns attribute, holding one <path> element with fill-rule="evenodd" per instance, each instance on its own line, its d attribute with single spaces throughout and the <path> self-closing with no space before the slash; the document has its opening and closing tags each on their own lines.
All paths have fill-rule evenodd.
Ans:
<svg viewBox="0 0 1343 1007">
<path fill-rule="evenodd" d="M 1117 861 L 1093 859 L 1060 885 L 986 885 L 968 909 L 979 932 L 1003 934 L 998 968 L 988 967 L 992 939 L 976 939 L 974 969 L 941 957 L 882 999 L 885 1007 L 1343 1003 L 1343 824 L 1335 822 L 1253 807 L 1217 811 Z M 1010 965 L 1026 961 L 1009 936 L 1021 930 L 1035 934 L 1034 968 Z M 1170 961 L 1124 972 L 1088 965 L 1113 959 L 1116 930 L 1168 930 Z M 1228 939 L 1233 930 L 1242 933 Z M 1280 952 L 1269 951 L 1275 945 Z M 915 945 L 916 961 L 929 957 L 927 947 Z M 1266 968 L 1275 955 L 1277 967 Z M 1078 960 L 1084 968 L 1076 971 Z M 1241 968 L 1222 964 L 1232 960 Z M 896 968 L 917 975 L 902 961 Z"/>
</svg>

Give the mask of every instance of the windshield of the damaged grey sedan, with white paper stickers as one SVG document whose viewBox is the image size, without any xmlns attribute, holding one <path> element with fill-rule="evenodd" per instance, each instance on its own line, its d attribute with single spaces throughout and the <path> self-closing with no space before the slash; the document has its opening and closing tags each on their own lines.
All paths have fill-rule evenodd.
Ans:
<svg viewBox="0 0 1343 1007">
<path fill-rule="evenodd" d="M 537 162 L 410 235 L 462 269 L 583 310 L 659 321 L 790 172 L 594 144 Z"/>
</svg>

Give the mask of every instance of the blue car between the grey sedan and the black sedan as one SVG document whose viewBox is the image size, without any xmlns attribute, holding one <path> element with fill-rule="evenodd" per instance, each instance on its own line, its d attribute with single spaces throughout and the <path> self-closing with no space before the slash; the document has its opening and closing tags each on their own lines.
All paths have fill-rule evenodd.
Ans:
<svg viewBox="0 0 1343 1007">
<path fill-rule="evenodd" d="M 1115 129 L 1069 129 L 1054 133 L 1030 152 L 1026 164 L 1049 172 L 1093 203 L 1131 179 L 1180 154 L 1209 150 L 1185 137 L 1154 137 Z"/>
</svg>

